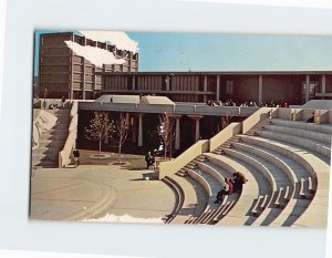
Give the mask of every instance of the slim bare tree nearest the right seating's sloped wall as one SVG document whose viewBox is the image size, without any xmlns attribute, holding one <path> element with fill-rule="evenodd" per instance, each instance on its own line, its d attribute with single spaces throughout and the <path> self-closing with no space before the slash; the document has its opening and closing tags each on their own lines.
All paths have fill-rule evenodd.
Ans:
<svg viewBox="0 0 332 258">
<path fill-rule="evenodd" d="M 167 152 L 169 153 L 169 159 L 172 158 L 173 142 L 175 138 L 174 118 L 169 113 L 159 115 L 158 133 L 164 143 L 164 157 L 166 158 Z"/>
</svg>

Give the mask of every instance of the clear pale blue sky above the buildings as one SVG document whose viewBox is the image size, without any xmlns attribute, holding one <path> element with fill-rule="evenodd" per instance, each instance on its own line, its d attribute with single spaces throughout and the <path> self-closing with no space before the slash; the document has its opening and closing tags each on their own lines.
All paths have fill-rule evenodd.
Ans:
<svg viewBox="0 0 332 258">
<path fill-rule="evenodd" d="M 45 32 L 37 31 L 35 49 Z M 139 71 L 332 70 L 332 37 L 126 33 L 138 42 Z"/>
</svg>

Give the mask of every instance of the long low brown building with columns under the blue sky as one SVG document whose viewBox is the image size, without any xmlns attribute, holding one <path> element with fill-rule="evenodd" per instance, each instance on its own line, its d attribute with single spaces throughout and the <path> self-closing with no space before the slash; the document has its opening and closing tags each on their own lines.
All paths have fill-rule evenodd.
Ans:
<svg viewBox="0 0 332 258">
<path fill-rule="evenodd" d="M 98 72 L 102 94 L 156 94 L 174 102 L 273 101 L 303 104 L 332 99 L 332 71 L 287 72 Z"/>
</svg>

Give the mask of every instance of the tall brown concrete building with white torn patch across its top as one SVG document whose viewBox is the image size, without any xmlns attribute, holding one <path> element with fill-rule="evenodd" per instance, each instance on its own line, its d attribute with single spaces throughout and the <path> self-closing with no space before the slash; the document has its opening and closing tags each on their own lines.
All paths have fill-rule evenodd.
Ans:
<svg viewBox="0 0 332 258">
<path fill-rule="evenodd" d="M 91 45 L 113 52 L 124 64 L 104 64 L 98 68 L 74 53 L 64 41 Z M 137 72 L 138 53 L 116 49 L 106 42 L 93 41 L 74 32 L 40 35 L 39 96 L 66 99 L 95 99 L 102 89 L 102 75 L 96 72 Z"/>
</svg>

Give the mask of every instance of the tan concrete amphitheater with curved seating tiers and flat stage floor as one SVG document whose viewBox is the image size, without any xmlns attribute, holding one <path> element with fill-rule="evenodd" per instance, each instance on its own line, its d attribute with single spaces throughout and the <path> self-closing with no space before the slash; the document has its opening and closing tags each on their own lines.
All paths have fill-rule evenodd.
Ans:
<svg viewBox="0 0 332 258">
<path fill-rule="evenodd" d="M 307 123 L 313 113 L 314 121 Z M 68 120 L 60 122 L 69 126 Z M 61 123 L 55 125 L 60 130 Z M 127 157 L 125 166 L 107 159 L 96 166 L 87 162 L 89 153 L 79 168 L 46 168 L 56 165 L 56 153 L 65 144 L 55 137 L 60 147 L 40 153 L 43 143 L 54 143 L 52 133 L 56 135 L 56 128 L 41 134 L 32 154 L 32 219 L 127 215 L 132 221 L 165 224 L 326 227 L 331 110 L 262 107 L 212 138 L 198 141 L 176 159 L 159 162 L 155 173 L 144 168 L 142 157 Z M 234 172 L 248 179 L 242 192 L 215 204 L 224 179 Z"/>
</svg>

